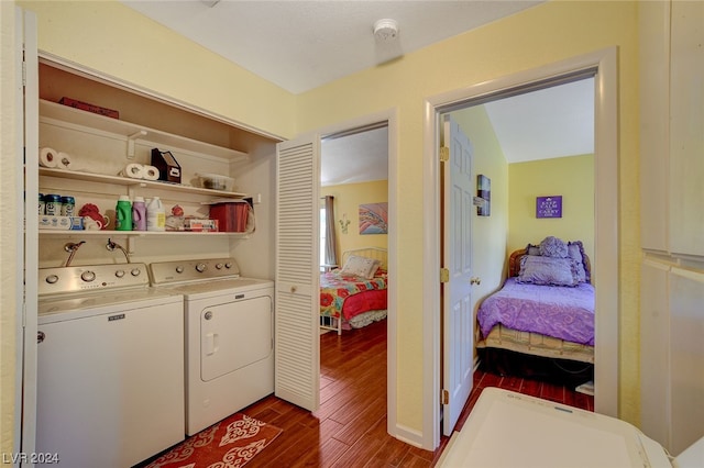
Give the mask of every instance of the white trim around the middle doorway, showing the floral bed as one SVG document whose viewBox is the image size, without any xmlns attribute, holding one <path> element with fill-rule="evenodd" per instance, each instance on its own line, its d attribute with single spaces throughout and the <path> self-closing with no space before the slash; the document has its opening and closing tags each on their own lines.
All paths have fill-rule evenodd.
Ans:
<svg viewBox="0 0 704 468">
<path fill-rule="evenodd" d="M 386 431 L 393 437 L 420 446 L 418 434 L 409 432 L 397 422 L 397 322 L 398 304 L 398 109 L 388 109 L 358 119 L 326 126 L 316 131 L 320 135 L 332 135 L 352 129 L 364 127 L 377 122 L 387 122 L 388 130 L 388 313 L 386 316 Z M 414 442 L 416 441 L 416 442 Z"/>
</svg>

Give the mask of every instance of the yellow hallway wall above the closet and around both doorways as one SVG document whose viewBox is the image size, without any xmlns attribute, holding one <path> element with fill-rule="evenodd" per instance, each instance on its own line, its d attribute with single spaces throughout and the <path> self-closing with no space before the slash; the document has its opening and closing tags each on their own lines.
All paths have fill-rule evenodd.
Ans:
<svg viewBox="0 0 704 468">
<path fill-rule="evenodd" d="M 0 2 L 7 3 L 7 2 Z M 297 133 L 395 109 L 398 116 L 397 417 L 424 427 L 424 99 L 606 47 L 618 47 L 620 416 L 639 395 L 638 30 L 636 1 L 549 1 L 294 97 L 118 2 L 19 2 L 37 12 L 40 48 L 263 131 Z M 3 8 L 3 12 L 9 9 Z M 108 26 L 109 25 L 109 26 Z M 3 47 L 12 27 L 2 23 Z M 4 64 L 3 64 L 4 74 Z M 4 78 L 4 75 L 3 75 Z M 8 83 L 2 81 L 3 96 Z M 4 107 L 3 107 L 4 111 Z M 4 119 L 4 112 L 3 112 Z M 3 129 L 4 146 L 4 129 Z M 3 151 L 4 159 L 4 151 Z M 2 191 L 8 177 L 3 176 Z M 18 205 L 18 204 L 15 204 Z M 6 265 L 6 249 L 3 261 Z M 3 291 L 8 286 L 3 282 Z M 7 320 L 3 303 L 3 330 Z M 4 332 L 3 332 L 4 333 Z M 4 346 L 4 344 L 3 344 Z M 14 371 L 13 356 L 2 368 Z M 4 371 L 4 370 L 3 370 Z M 4 375 L 3 375 L 4 377 Z M 4 386 L 4 379 L 3 379 Z M 3 395 L 2 417 L 13 411 Z M 7 438 L 3 434 L 3 444 Z"/>
</svg>

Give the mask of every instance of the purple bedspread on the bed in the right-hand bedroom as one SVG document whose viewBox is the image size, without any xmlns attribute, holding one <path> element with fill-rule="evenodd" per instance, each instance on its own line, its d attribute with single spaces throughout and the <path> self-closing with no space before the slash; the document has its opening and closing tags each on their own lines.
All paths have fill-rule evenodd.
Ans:
<svg viewBox="0 0 704 468">
<path fill-rule="evenodd" d="M 519 283 L 508 278 L 504 287 L 482 302 L 477 320 L 483 336 L 502 324 L 568 342 L 594 345 L 594 287 L 566 288 Z"/>
</svg>

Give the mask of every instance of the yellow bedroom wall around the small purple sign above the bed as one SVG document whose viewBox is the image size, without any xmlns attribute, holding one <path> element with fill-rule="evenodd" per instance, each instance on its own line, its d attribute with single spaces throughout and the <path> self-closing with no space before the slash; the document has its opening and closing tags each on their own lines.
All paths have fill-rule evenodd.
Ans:
<svg viewBox="0 0 704 468">
<path fill-rule="evenodd" d="M 594 155 L 508 165 L 508 252 L 553 235 L 594 259 Z M 562 218 L 536 218 L 536 197 L 562 196 Z"/>
</svg>

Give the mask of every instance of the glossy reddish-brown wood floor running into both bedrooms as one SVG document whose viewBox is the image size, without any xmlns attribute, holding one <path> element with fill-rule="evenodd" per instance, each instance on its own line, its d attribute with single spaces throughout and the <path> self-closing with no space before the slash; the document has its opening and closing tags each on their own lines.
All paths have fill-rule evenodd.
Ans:
<svg viewBox="0 0 704 468">
<path fill-rule="evenodd" d="M 386 321 L 320 337 L 320 409 L 310 413 L 267 397 L 243 413 L 284 432 L 248 467 L 431 467 L 435 452 L 421 450 L 386 433 Z M 476 371 L 472 394 L 455 430 L 462 427 L 482 390 L 502 387 L 593 411 L 594 399 L 534 380 Z"/>
</svg>

